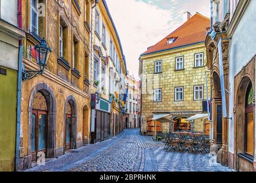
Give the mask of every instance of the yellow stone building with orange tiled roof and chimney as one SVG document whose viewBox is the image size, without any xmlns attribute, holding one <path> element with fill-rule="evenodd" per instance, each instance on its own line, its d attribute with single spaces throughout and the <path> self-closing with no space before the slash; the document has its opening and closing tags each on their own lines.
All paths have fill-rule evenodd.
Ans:
<svg viewBox="0 0 256 183">
<path fill-rule="evenodd" d="M 208 133 L 207 117 L 186 121 L 206 113 L 206 47 L 204 40 L 210 19 L 196 13 L 162 41 L 140 55 L 141 133 L 186 130 Z M 210 96 L 210 74 L 208 96 Z M 162 119 L 156 120 L 157 117 Z M 161 121 L 163 121 L 162 123 Z"/>
</svg>

